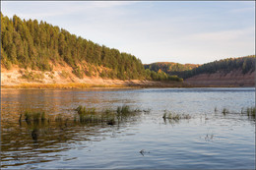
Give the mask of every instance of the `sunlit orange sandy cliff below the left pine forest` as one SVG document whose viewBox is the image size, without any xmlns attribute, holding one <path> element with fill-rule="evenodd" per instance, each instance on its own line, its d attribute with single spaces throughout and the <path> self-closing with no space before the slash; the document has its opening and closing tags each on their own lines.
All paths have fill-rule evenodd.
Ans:
<svg viewBox="0 0 256 170">
<path fill-rule="evenodd" d="M 85 87 L 85 86 L 182 86 L 177 82 L 156 82 L 156 81 L 122 81 L 112 79 L 102 79 L 100 77 L 87 77 L 79 79 L 72 73 L 69 66 L 53 67 L 51 72 L 25 70 L 18 66 L 11 70 L 1 69 L 1 86 L 2 87 Z"/>
</svg>

